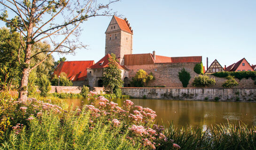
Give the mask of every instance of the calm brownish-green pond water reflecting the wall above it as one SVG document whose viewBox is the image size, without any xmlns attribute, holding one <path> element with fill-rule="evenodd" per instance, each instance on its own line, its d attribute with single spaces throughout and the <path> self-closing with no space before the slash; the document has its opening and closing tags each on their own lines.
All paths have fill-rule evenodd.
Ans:
<svg viewBox="0 0 256 150">
<path fill-rule="evenodd" d="M 66 99 L 75 106 L 82 107 L 88 102 L 85 99 Z M 161 100 L 161 99 L 131 99 L 134 105 L 141 105 L 154 110 L 156 120 L 168 125 L 168 121 L 175 126 L 193 125 L 209 127 L 216 123 L 239 123 L 239 120 L 249 126 L 256 126 L 256 103 L 244 102 L 204 102 L 186 100 Z M 123 99 L 114 99 L 118 106 L 123 105 Z"/>
</svg>

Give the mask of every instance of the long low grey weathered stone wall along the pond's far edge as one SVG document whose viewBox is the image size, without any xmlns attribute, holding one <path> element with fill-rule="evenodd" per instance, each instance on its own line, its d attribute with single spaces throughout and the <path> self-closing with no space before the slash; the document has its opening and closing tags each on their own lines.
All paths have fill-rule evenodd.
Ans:
<svg viewBox="0 0 256 150">
<path fill-rule="evenodd" d="M 133 98 L 256 101 L 256 89 L 224 88 L 121 88 Z"/>
</svg>

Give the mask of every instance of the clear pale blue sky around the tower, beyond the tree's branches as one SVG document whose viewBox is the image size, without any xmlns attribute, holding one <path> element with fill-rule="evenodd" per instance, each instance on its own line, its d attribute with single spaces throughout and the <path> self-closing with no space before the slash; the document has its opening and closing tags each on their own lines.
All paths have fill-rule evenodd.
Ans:
<svg viewBox="0 0 256 150">
<path fill-rule="evenodd" d="M 202 56 L 204 66 L 206 57 L 223 67 L 242 58 L 256 64 L 256 0 L 122 0 L 110 7 L 129 20 L 133 53 Z M 54 58 L 100 60 L 110 20 L 89 19 L 80 38 L 87 49 Z"/>
</svg>

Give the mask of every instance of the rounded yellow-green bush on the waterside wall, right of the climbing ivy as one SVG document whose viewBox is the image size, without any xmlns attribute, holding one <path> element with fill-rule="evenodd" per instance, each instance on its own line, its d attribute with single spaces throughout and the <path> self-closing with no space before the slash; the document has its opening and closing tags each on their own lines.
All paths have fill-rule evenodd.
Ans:
<svg viewBox="0 0 256 150">
<path fill-rule="evenodd" d="M 194 77 L 192 85 L 195 87 L 207 87 L 208 85 L 215 85 L 215 79 L 209 78 L 208 75 L 198 75 Z"/>
</svg>

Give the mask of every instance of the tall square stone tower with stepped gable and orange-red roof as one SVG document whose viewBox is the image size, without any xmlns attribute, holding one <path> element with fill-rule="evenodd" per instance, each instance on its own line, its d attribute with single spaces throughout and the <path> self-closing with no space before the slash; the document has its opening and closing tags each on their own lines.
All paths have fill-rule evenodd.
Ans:
<svg viewBox="0 0 256 150">
<path fill-rule="evenodd" d="M 133 30 L 130 27 L 130 23 L 126 19 L 113 16 L 105 34 L 105 55 L 108 53 L 116 54 L 120 65 L 124 65 L 124 55 L 132 54 Z"/>
</svg>

